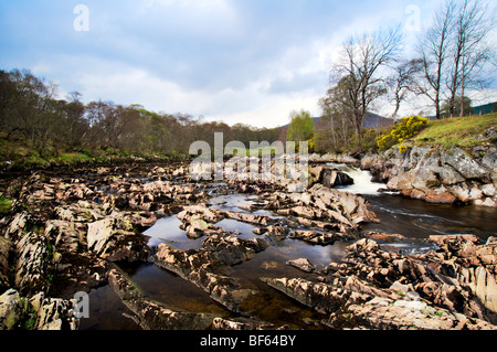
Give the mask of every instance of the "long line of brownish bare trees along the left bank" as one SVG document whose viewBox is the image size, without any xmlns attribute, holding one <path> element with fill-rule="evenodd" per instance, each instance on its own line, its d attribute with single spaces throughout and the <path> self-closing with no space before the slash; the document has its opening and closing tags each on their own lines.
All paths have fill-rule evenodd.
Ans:
<svg viewBox="0 0 497 352">
<path fill-rule="evenodd" d="M 56 90 L 55 84 L 29 71 L 0 71 L 0 137 L 41 156 L 108 148 L 137 154 L 188 154 L 195 140 L 213 143 L 214 132 L 247 146 L 252 140 L 278 138 L 276 129 L 210 122 L 187 114 L 149 111 L 139 105 L 83 104 L 80 93 L 60 99 Z"/>
</svg>

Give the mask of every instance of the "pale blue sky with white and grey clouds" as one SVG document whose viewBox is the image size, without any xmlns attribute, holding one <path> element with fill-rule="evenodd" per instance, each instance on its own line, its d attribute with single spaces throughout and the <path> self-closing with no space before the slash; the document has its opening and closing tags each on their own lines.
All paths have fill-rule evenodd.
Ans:
<svg viewBox="0 0 497 352">
<path fill-rule="evenodd" d="M 53 81 L 61 98 L 275 127 L 293 109 L 319 115 L 348 35 L 402 23 L 409 46 L 442 2 L 1 1 L 0 68 Z"/>
</svg>

